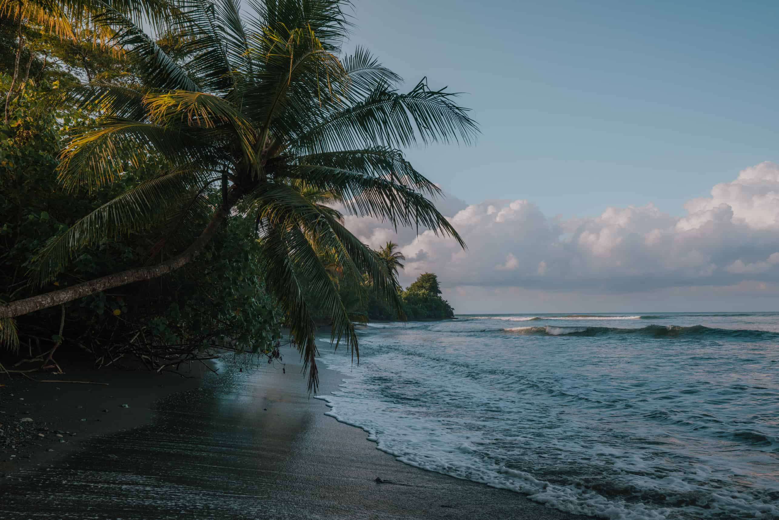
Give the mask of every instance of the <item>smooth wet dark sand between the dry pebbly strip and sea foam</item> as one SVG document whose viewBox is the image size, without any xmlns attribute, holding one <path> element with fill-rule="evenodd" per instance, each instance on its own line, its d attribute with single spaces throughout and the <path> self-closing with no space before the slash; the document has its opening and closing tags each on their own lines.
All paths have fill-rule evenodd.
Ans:
<svg viewBox="0 0 779 520">
<path fill-rule="evenodd" d="M 0 518 L 580 518 L 397 462 L 362 430 L 324 416 L 297 354 L 283 355 L 286 373 L 224 367 L 160 401 L 150 425 L 86 438 L 51 466 L 0 478 Z M 319 394 L 340 379 L 322 370 Z M 120 401 L 96 415 L 133 409 Z"/>
</svg>

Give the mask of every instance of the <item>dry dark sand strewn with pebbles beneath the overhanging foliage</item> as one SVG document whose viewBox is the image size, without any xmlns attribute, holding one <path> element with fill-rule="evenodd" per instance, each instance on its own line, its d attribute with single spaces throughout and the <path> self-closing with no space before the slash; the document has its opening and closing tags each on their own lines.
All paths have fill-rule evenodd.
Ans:
<svg viewBox="0 0 779 520">
<path fill-rule="evenodd" d="M 208 371 L 200 364 L 182 367 L 179 373 L 94 370 L 85 362 L 62 366 L 63 374 L 31 377 L 108 384 L 38 383 L 0 373 L 0 490 L 4 476 L 62 460 L 94 435 L 146 426 L 154 418 L 157 401 L 199 387 Z M 22 422 L 23 418 L 33 420 Z"/>
</svg>

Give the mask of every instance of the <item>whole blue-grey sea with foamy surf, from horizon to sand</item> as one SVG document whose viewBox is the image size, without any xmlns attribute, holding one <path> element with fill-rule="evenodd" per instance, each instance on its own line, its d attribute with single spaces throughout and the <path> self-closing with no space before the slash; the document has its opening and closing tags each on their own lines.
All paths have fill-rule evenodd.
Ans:
<svg viewBox="0 0 779 520">
<path fill-rule="evenodd" d="M 779 313 L 368 324 L 319 396 L 401 462 L 599 518 L 779 518 Z"/>
</svg>

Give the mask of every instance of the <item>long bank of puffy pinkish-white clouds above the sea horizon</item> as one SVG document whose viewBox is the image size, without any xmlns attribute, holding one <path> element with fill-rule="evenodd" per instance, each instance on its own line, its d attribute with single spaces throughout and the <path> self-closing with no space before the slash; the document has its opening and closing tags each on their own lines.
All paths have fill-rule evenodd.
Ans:
<svg viewBox="0 0 779 520">
<path fill-rule="evenodd" d="M 779 281 L 779 165 L 771 162 L 689 200 L 682 216 L 647 203 L 562 220 L 528 200 L 448 200 L 466 250 L 430 231 L 396 234 L 360 218 L 347 226 L 371 246 L 400 243 L 404 282 L 435 271 L 445 287 L 603 294 Z"/>
</svg>

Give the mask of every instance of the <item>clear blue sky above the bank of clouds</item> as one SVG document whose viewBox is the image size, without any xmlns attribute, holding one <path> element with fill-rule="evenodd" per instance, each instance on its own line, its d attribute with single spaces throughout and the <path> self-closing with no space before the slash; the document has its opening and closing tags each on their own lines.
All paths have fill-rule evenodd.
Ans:
<svg viewBox="0 0 779 520">
<path fill-rule="evenodd" d="M 361 1 L 354 44 L 408 83 L 466 92 L 475 147 L 409 157 L 478 203 L 671 214 L 777 158 L 776 2 Z"/>
</svg>

